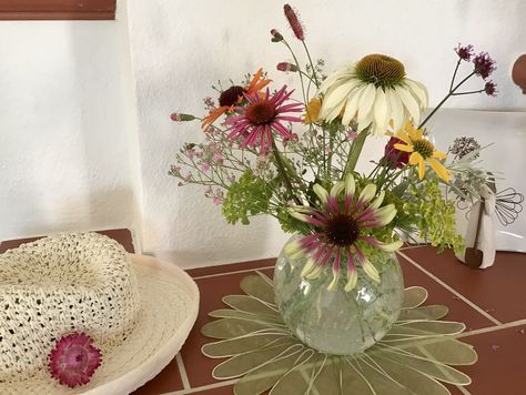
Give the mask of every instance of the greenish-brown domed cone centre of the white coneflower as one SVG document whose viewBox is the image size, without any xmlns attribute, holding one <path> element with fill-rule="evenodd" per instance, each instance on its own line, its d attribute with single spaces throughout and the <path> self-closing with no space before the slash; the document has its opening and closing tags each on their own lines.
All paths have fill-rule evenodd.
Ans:
<svg viewBox="0 0 526 395">
<path fill-rule="evenodd" d="M 404 64 L 385 54 L 368 54 L 356 63 L 356 75 L 364 82 L 376 87 L 393 87 L 402 82 L 405 77 Z"/>
</svg>

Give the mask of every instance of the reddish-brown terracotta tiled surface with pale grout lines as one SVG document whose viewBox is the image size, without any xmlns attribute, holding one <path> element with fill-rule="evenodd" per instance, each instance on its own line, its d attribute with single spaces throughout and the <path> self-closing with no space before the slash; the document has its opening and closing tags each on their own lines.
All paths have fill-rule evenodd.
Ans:
<svg viewBox="0 0 526 395">
<path fill-rule="evenodd" d="M 131 236 L 124 230 L 110 232 L 133 251 Z M 0 252 L 21 241 L 0 245 Z M 448 320 L 466 323 L 463 341 L 475 346 L 478 362 L 462 368 L 473 383 L 465 388 L 448 386 L 452 394 L 524 394 L 526 373 L 526 254 L 497 253 L 495 265 L 474 271 L 462 265 L 446 251 L 426 245 L 407 246 L 399 252 L 406 286 L 422 285 L 428 293 L 426 304 L 449 307 Z M 274 260 L 261 260 L 189 270 L 201 292 L 198 321 L 181 353 L 155 378 L 134 392 L 136 395 L 199 394 L 230 395 L 234 381 L 212 378 L 213 367 L 222 359 L 201 354 L 208 342 L 200 334 L 209 322 L 208 313 L 223 307 L 222 296 L 242 293 L 241 278 L 259 269 L 269 276 Z M 293 394 L 291 394 L 293 395 Z M 326 394 L 331 395 L 331 394 Z"/>
</svg>

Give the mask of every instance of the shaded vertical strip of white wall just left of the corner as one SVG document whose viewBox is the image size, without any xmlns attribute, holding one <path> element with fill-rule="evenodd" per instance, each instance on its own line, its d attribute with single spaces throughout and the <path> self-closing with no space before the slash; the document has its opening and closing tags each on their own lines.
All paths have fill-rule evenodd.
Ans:
<svg viewBox="0 0 526 395">
<path fill-rule="evenodd" d="M 131 166 L 131 153 L 136 150 L 132 136 L 135 109 L 129 99 L 131 63 L 122 29 L 122 21 L 90 29 L 71 27 L 90 229 L 138 227 L 140 210 L 133 188 L 138 174 Z"/>
</svg>

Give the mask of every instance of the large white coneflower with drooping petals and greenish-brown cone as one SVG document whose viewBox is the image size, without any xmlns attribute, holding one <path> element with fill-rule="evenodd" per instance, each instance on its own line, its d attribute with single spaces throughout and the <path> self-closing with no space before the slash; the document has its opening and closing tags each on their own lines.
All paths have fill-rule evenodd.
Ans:
<svg viewBox="0 0 526 395">
<path fill-rule="evenodd" d="M 320 93 L 321 119 L 332 122 L 342 114 L 342 124 L 355 119 L 358 132 L 371 125 L 380 135 L 390 122 L 395 131 L 411 120 L 418 124 L 428 100 L 426 88 L 405 77 L 404 64 L 377 53 L 336 70 L 322 83 Z"/>
</svg>

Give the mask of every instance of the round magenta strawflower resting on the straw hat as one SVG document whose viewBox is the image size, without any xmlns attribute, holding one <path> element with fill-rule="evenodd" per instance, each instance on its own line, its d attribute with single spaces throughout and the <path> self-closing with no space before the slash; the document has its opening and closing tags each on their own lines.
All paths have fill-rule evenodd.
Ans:
<svg viewBox="0 0 526 395">
<path fill-rule="evenodd" d="M 71 388 L 88 384 L 101 365 L 102 353 L 85 333 L 61 337 L 49 354 L 49 371 L 60 384 Z"/>
</svg>

